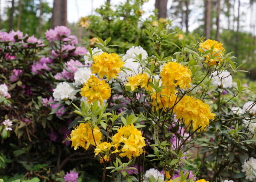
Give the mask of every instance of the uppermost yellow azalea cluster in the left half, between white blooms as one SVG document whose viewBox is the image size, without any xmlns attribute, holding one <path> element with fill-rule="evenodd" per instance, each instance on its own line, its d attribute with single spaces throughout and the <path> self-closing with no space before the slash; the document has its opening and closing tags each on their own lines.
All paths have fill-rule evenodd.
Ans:
<svg viewBox="0 0 256 182">
<path fill-rule="evenodd" d="M 117 74 L 124 66 L 118 54 L 102 53 L 99 56 L 93 56 L 92 73 L 98 73 L 100 78 L 106 75 L 107 79 L 116 78 Z"/>
</svg>

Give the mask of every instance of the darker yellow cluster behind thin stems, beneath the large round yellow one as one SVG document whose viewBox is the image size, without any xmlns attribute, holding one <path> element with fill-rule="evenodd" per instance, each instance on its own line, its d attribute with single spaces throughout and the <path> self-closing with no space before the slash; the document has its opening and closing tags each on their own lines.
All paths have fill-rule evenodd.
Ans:
<svg viewBox="0 0 256 182">
<path fill-rule="evenodd" d="M 173 107 L 175 101 L 178 101 L 177 96 L 172 94 L 167 88 L 163 88 L 161 92 L 158 92 L 157 94 L 154 92 L 150 94 L 150 96 L 153 100 L 151 104 L 156 106 L 156 111 L 163 108 L 163 110 L 166 112 L 167 108 Z M 152 107 L 152 110 L 154 111 L 154 107 Z"/>
</svg>

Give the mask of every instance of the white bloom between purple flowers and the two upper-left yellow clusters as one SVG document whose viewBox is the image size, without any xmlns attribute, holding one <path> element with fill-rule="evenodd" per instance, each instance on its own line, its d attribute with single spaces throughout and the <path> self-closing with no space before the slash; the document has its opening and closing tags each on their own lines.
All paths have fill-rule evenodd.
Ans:
<svg viewBox="0 0 256 182">
<path fill-rule="evenodd" d="M 83 83 L 86 83 L 86 81 L 91 77 L 92 71 L 90 70 L 90 68 L 78 68 L 78 70 L 76 71 L 76 73 L 74 74 L 74 85 L 76 85 L 76 87 L 78 85 L 82 85 Z"/>
</svg>

